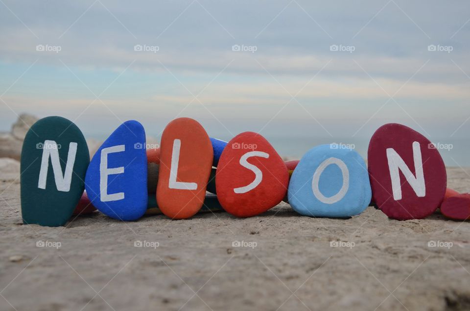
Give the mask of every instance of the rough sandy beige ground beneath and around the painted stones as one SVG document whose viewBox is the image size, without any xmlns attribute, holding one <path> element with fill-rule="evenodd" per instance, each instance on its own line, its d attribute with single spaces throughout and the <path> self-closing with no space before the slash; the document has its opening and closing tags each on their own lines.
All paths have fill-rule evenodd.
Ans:
<svg viewBox="0 0 470 311">
<path fill-rule="evenodd" d="M 469 171 L 448 168 L 449 187 L 469 191 Z M 470 310 L 470 225 L 439 213 L 309 218 L 281 204 L 246 219 L 23 225 L 10 159 L 0 161 L 0 195 L 2 311 Z"/>
</svg>

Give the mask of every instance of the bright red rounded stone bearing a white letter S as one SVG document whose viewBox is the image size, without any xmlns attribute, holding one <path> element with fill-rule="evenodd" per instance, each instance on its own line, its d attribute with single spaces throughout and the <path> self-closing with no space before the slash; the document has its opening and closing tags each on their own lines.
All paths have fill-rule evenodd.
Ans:
<svg viewBox="0 0 470 311">
<path fill-rule="evenodd" d="M 289 173 L 264 137 L 244 132 L 235 136 L 222 152 L 215 183 L 222 207 L 232 215 L 249 217 L 282 201 Z"/>
</svg>

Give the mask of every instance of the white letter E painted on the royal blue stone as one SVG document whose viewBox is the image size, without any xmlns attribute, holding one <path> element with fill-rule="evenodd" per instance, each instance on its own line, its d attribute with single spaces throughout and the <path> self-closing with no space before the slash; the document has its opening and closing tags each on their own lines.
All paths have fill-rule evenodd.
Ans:
<svg viewBox="0 0 470 311">
<path fill-rule="evenodd" d="M 108 176 L 124 172 L 124 167 L 108 168 L 108 154 L 125 150 L 126 146 L 123 144 L 101 149 L 101 162 L 99 163 L 99 196 L 101 202 L 124 199 L 124 192 L 108 194 Z"/>
</svg>

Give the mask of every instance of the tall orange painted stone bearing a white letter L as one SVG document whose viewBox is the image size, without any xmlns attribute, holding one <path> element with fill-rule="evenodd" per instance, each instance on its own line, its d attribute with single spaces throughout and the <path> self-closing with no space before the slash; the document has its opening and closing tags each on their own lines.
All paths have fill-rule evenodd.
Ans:
<svg viewBox="0 0 470 311">
<path fill-rule="evenodd" d="M 179 118 L 165 127 L 160 145 L 157 203 L 173 219 L 196 214 L 203 205 L 213 150 L 196 120 Z"/>
</svg>

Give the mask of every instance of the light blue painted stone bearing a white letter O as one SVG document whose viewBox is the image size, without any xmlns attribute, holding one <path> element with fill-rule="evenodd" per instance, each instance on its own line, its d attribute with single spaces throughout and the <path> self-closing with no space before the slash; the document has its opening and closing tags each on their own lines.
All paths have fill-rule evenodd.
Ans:
<svg viewBox="0 0 470 311">
<path fill-rule="evenodd" d="M 305 216 L 359 215 L 372 197 L 366 163 L 352 149 L 314 147 L 294 169 L 287 196 L 292 208 Z"/>
</svg>

